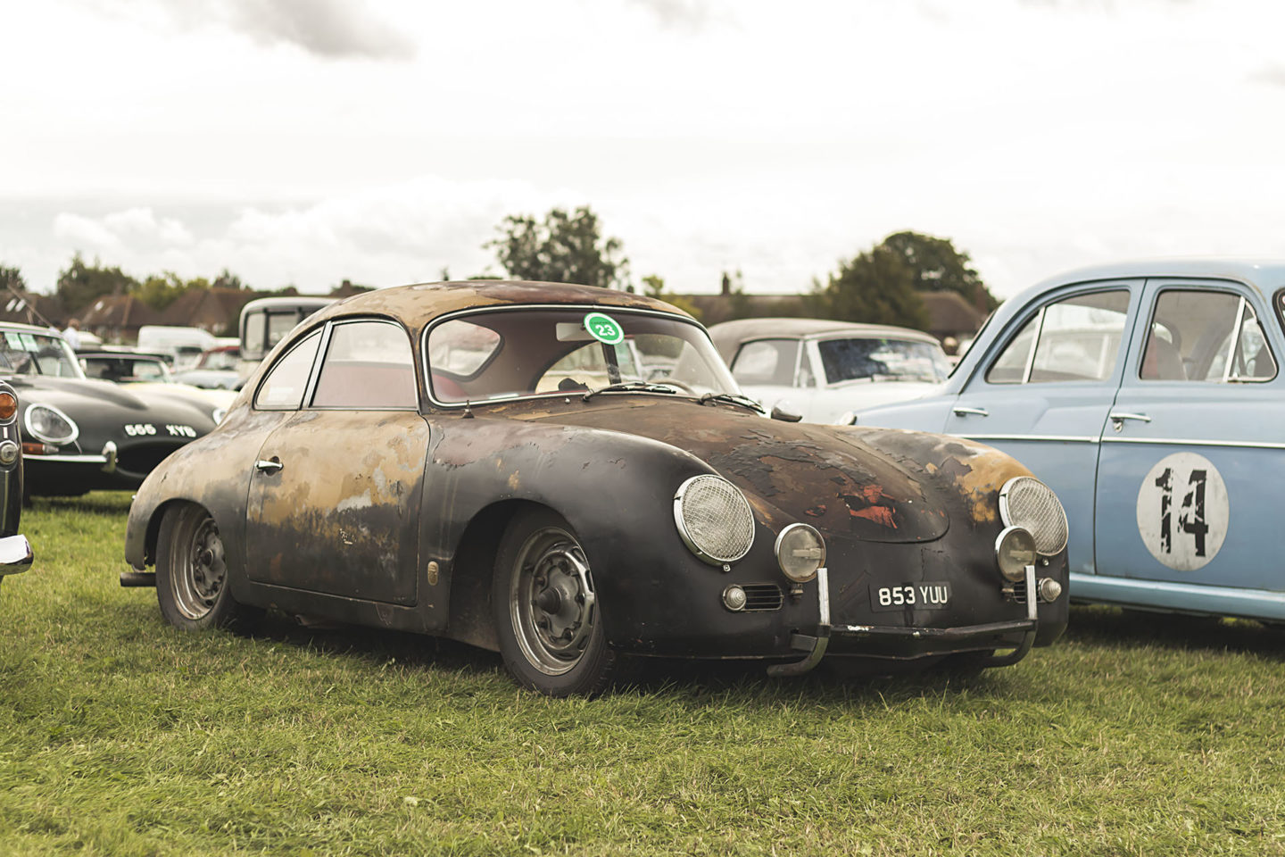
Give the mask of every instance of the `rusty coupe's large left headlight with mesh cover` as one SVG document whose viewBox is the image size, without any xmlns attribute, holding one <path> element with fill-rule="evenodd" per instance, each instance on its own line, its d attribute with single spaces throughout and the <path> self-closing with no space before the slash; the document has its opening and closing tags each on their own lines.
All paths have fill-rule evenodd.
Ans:
<svg viewBox="0 0 1285 857">
<path fill-rule="evenodd" d="M 673 520 L 687 549 L 709 563 L 735 563 L 754 543 L 754 513 L 722 477 L 691 477 L 673 496 Z"/>
</svg>

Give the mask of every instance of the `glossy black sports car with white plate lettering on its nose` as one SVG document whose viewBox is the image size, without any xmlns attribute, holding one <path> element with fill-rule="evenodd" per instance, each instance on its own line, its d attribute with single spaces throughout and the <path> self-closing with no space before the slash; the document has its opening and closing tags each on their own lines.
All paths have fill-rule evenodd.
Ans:
<svg viewBox="0 0 1285 857">
<path fill-rule="evenodd" d="M 0 378 L 18 393 L 28 495 L 134 488 L 215 427 L 218 405 L 182 392 L 87 379 L 48 328 L 0 324 Z"/>
</svg>

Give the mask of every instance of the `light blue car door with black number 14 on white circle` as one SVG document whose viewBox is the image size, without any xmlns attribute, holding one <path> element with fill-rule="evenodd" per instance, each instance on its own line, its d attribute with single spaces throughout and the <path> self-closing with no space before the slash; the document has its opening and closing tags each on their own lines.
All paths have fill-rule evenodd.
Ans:
<svg viewBox="0 0 1285 857">
<path fill-rule="evenodd" d="M 1099 574 L 1285 590 L 1285 343 L 1241 283 L 1148 280 L 1101 443 Z M 1187 592 L 1209 609 L 1208 592 Z M 1174 604 L 1169 604 L 1174 605 Z M 1180 605 L 1181 606 L 1181 605 Z"/>
</svg>

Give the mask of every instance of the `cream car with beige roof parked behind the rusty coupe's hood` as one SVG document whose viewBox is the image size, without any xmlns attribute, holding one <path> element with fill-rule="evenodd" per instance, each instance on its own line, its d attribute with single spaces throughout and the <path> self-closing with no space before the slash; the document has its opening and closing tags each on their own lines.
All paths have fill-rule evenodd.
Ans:
<svg viewBox="0 0 1285 857">
<path fill-rule="evenodd" d="M 741 391 L 789 402 L 808 423 L 935 392 L 951 365 L 926 333 L 817 319 L 741 319 L 709 328 Z"/>
</svg>

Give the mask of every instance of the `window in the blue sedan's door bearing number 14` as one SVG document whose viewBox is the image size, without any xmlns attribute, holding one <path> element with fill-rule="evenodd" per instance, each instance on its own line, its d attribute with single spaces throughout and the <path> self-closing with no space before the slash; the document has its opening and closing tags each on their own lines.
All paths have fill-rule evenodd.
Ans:
<svg viewBox="0 0 1285 857">
<path fill-rule="evenodd" d="M 1276 376 L 1254 308 L 1227 292 L 1169 289 L 1155 302 L 1142 380 L 1254 382 Z"/>
</svg>

